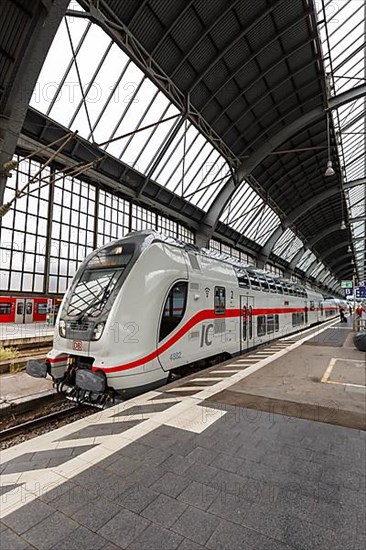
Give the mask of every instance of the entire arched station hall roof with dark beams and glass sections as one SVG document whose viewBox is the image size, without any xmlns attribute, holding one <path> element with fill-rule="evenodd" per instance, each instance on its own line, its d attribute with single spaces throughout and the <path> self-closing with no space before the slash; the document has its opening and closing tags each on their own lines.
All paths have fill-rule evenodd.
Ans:
<svg viewBox="0 0 366 550">
<path fill-rule="evenodd" d="M 20 134 L 78 130 L 63 162 L 98 159 L 90 177 L 184 221 L 198 244 L 365 279 L 364 1 L 28 4 L 4 11 L 2 165 Z"/>
</svg>

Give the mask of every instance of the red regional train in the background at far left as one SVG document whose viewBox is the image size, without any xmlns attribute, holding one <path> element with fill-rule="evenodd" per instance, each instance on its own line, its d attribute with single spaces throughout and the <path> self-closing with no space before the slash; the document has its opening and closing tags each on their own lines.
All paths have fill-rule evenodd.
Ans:
<svg viewBox="0 0 366 550">
<path fill-rule="evenodd" d="M 44 296 L 0 296 L 0 323 L 46 322 L 50 313 L 57 313 L 59 298 Z"/>
</svg>

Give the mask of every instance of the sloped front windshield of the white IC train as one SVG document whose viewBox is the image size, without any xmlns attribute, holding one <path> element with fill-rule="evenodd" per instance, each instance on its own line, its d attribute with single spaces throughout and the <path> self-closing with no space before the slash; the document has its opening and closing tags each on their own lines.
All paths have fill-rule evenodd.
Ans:
<svg viewBox="0 0 366 550">
<path fill-rule="evenodd" d="M 86 264 L 73 291 L 67 315 L 98 316 L 130 263 L 134 245 L 113 245 L 95 254 Z"/>
</svg>

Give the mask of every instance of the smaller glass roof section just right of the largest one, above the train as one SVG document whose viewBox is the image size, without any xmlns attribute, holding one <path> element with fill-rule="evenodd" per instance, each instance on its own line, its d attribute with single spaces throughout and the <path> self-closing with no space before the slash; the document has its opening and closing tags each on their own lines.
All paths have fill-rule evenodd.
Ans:
<svg viewBox="0 0 366 550">
<path fill-rule="evenodd" d="M 280 219 L 245 181 L 239 185 L 220 220 L 263 246 Z"/>
</svg>

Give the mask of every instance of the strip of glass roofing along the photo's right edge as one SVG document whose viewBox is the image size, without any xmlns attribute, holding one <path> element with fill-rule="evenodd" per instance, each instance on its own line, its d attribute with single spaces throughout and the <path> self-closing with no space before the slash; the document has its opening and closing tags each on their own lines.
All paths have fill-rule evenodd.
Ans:
<svg viewBox="0 0 366 550">
<path fill-rule="evenodd" d="M 365 0 L 321 0 L 316 2 L 326 73 L 330 75 L 330 95 L 365 83 Z M 337 134 L 338 155 L 344 181 L 366 176 L 366 98 L 332 111 Z M 358 278 L 365 280 L 366 197 L 365 183 L 345 192 L 351 220 Z M 362 221 L 352 221 L 363 217 Z M 361 237 L 361 238 L 359 238 Z"/>
</svg>

